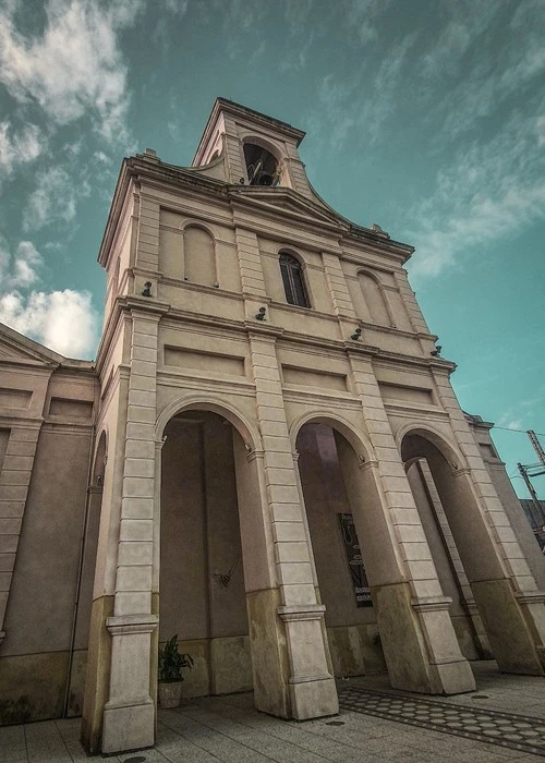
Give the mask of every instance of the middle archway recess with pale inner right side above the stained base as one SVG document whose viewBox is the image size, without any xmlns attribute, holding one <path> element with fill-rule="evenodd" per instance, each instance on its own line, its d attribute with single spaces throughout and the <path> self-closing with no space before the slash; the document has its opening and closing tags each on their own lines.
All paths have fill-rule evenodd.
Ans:
<svg viewBox="0 0 545 763">
<path fill-rule="evenodd" d="M 302 502 L 334 673 L 384 671 L 388 656 L 385 663 L 375 592 L 400 581 L 402 562 L 382 502 L 373 450 L 353 424 L 330 412 L 299 416 L 290 435 L 299 451 Z M 383 646 L 390 630 L 386 628 Z"/>
</svg>

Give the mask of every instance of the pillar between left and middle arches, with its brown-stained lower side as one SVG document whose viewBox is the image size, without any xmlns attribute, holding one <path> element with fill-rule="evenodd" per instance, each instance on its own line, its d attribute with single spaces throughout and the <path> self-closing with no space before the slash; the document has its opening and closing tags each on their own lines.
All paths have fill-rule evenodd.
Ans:
<svg viewBox="0 0 545 763">
<path fill-rule="evenodd" d="M 270 542 L 276 566 L 275 588 L 249 595 L 256 706 L 286 717 L 304 718 L 338 712 L 322 621 L 325 607 L 316 601 L 311 554 L 293 464 L 283 405 L 276 337 L 267 329 L 250 332 L 256 409 L 263 438 L 261 470 L 268 504 Z M 242 519 L 242 516 L 241 516 Z M 242 525 L 242 522 L 241 522 Z M 241 528 L 242 530 L 242 528 Z M 243 532 L 243 530 L 242 530 Z M 270 644 L 270 634 L 274 643 Z M 271 706 L 264 677 L 276 654 L 283 683 L 280 704 Z M 282 669 L 282 663 L 288 670 Z"/>
</svg>

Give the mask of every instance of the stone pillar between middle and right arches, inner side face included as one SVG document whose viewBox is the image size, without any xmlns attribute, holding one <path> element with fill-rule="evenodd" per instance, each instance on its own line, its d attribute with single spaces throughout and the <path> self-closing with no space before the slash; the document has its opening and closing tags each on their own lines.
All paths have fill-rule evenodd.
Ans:
<svg viewBox="0 0 545 763">
<path fill-rule="evenodd" d="M 338 447 L 360 543 L 372 560 L 370 584 L 391 683 L 425 693 L 472 691 L 473 674 L 460 652 L 450 600 L 437 578 L 371 360 L 348 354 L 376 460 L 358 463 L 344 440 Z"/>
</svg>

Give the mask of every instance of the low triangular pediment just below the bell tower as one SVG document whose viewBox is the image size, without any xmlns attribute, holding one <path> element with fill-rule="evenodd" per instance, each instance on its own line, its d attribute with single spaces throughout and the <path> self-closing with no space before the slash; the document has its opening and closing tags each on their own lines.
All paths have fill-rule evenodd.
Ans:
<svg viewBox="0 0 545 763">
<path fill-rule="evenodd" d="M 259 186 L 241 186 L 232 191 L 232 196 L 240 198 L 256 209 L 270 215 L 283 215 L 302 222 L 335 228 L 346 228 L 347 221 L 332 210 L 323 208 L 291 189 L 267 189 Z"/>
</svg>

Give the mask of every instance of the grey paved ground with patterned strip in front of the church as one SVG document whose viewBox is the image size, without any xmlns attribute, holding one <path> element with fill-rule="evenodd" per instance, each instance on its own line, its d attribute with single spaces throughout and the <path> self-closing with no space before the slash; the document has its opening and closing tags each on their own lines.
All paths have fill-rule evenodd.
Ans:
<svg viewBox="0 0 545 763">
<path fill-rule="evenodd" d="M 545 679 L 501 676 L 491 663 L 475 664 L 475 673 L 476 692 L 432 701 L 391 691 L 384 676 L 341 681 L 341 705 L 355 710 L 341 710 L 338 717 L 302 724 L 257 713 L 251 694 L 193 700 L 175 711 L 160 712 L 157 744 L 153 750 L 107 760 L 537 763 L 545 755 Z M 371 711 L 373 715 L 368 714 Z M 397 720 L 392 719 L 395 715 Z M 525 737 L 519 734 L 524 729 Z M 78 719 L 0 728 L 0 763 L 104 760 L 85 755 L 78 734 Z M 509 740 L 509 736 L 513 738 Z M 487 738 L 492 741 L 481 741 Z M 529 753 L 502 743 L 533 746 L 540 752 Z"/>
</svg>

